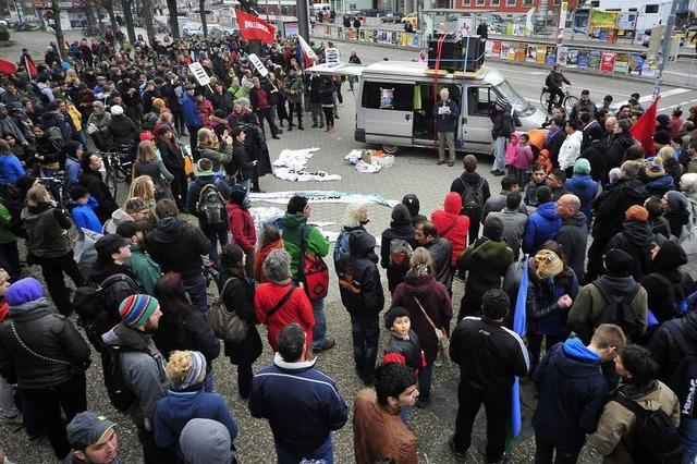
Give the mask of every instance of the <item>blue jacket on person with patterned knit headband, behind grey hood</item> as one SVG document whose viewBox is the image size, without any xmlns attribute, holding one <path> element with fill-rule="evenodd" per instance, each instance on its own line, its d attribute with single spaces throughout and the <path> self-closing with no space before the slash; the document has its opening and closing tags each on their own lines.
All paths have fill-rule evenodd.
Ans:
<svg viewBox="0 0 697 464">
<path fill-rule="evenodd" d="M 219 393 L 206 393 L 204 390 L 169 390 L 167 396 L 157 402 L 155 410 L 155 443 L 159 448 L 174 445 L 176 454 L 182 457 L 179 437 L 193 418 L 221 423 L 228 428 L 231 442 L 237 436 L 237 424 Z"/>
</svg>

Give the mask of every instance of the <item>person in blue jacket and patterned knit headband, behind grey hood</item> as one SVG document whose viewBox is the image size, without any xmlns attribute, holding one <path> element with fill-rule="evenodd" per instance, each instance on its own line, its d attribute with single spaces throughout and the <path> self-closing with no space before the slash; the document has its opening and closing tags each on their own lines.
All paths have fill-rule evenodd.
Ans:
<svg viewBox="0 0 697 464">
<path fill-rule="evenodd" d="M 172 387 L 167 396 L 158 401 L 155 410 L 155 443 L 162 449 L 174 449 L 183 461 L 179 437 L 193 418 L 221 423 L 228 428 L 232 442 L 237 436 L 237 424 L 225 401 L 219 393 L 203 390 L 206 357 L 197 351 L 174 351 L 170 354 L 166 370 Z"/>
</svg>

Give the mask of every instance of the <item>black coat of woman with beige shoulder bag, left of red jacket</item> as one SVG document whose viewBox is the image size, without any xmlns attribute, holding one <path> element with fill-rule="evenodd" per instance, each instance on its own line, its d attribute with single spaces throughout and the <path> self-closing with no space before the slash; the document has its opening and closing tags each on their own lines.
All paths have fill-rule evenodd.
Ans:
<svg viewBox="0 0 697 464">
<path fill-rule="evenodd" d="M 230 273 L 223 270 L 218 280 L 218 291 L 222 291 L 224 283 L 228 283 L 222 301 L 225 307 L 234 309 L 237 315 L 247 322 L 247 337 L 240 343 L 224 342 L 225 356 L 235 365 L 254 363 L 262 351 L 261 337 L 256 325 L 259 323 L 254 312 L 254 282 L 244 277 L 242 272 Z"/>
</svg>

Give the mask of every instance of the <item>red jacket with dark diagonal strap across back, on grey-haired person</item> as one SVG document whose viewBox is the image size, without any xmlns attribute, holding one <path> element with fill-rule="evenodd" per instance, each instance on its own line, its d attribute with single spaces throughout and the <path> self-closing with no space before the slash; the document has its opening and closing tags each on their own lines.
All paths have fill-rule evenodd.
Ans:
<svg viewBox="0 0 697 464">
<path fill-rule="evenodd" d="M 309 352 L 309 347 L 313 345 L 315 315 L 313 313 L 313 306 L 302 289 L 296 288 L 283 306 L 272 314 L 271 318 L 268 317 L 269 312 L 281 301 L 288 292 L 288 289 L 289 285 L 280 285 L 274 282 L 259 284 L 254 294 L 254 310 L 259 322 L 268 326 L 269 344 L 271 349 L 273 349 L 273 352 L 278 351 L 276 341 L 278 340 L 279 332 L 291 322 L 299 323 L 303 330 L 305 330 L 307 351 Z"/>
</svg>

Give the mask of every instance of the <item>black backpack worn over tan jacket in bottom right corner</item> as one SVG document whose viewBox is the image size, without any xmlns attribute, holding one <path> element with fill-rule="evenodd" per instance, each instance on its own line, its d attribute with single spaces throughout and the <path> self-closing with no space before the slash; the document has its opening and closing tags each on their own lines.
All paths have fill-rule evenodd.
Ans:
<svg viewBox="0 0 697 464">
<path fill-rule="evenodd" d="M 683 445 L 677 428 L 671 418 L 661 410 L 648 411 L 620 394 L 611 401 L 622 404 L 636 416 L 634 423 L 634 440 L 627 447 L 636 464 L 680 464 L 683 459 Z"/>
</svg>

